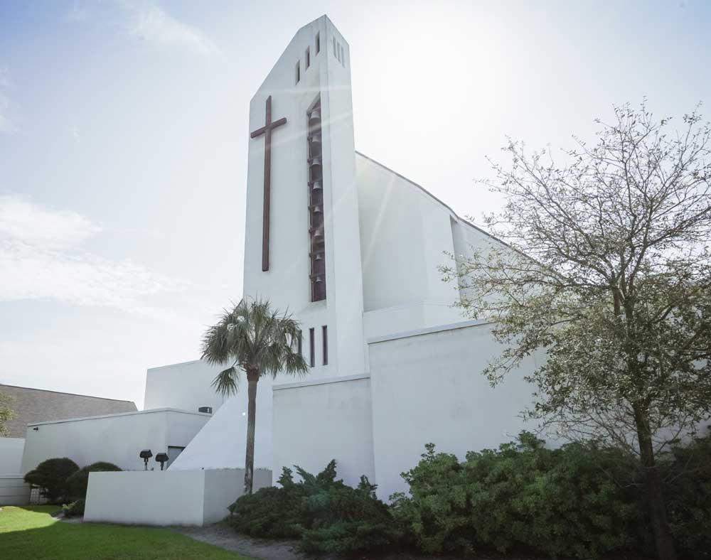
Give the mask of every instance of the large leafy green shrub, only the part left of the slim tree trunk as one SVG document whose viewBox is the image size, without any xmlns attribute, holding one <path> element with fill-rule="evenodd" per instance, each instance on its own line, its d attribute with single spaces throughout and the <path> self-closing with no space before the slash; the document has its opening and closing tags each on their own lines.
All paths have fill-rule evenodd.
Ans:
<svg viewBox="0 0 711 560">
<path fill-rule="evenodd" d="M 638 543 L 643 510 L 629 458 L 570 443 L 546 449 L 532 434 L 466 461 L 435 453 L 403 478 L 410 496 L 392 496 L 410 542 L 427 553 L 524 547 L 552 556 L 597 558 Z M 611 476 L 613 475 L 613 476 Z"/>
</svg>

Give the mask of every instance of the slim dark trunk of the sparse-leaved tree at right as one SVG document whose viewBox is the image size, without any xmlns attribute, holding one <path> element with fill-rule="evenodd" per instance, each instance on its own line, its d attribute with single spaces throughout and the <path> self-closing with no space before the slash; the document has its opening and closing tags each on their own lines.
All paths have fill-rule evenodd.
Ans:
<svg viewBox="0 0 711 560">
<path fill-rule="evenodd" d="M 657 556 L 659 560 L 675 560 L 676 551 L 674 541 L 667 521 L 664 496 L 662 494 L 662 480 L 659 468 L 654 458 L 654 448 L 652 435 L 649 429 L 649 421 L 646 414 L 638 409 L 635 410 L 635 421 L 637 425 L 637 441 L 639 443 L 639 453 L 644 470 L 644 480 L 647 489 L 647 500 L 649 503 L 649 516 L 652 522 L 654 540 L 656 542 Z"/>
</svg>

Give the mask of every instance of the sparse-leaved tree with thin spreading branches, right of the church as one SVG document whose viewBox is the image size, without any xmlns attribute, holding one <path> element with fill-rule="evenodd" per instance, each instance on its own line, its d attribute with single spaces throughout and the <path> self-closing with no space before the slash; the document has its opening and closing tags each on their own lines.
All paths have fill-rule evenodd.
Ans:
<svg viewBox="0 0 711 560">
<path fill-rule="evenodd" d="M 644 104 L 616 107 L 597 143 L 557 163 L 510 142 L 488 185 L 505 205 L 491 242 L 445 276 L 506 345 L 492 384 L 540 349 L 530 416 L 572 440 L 638 456 L 658 556 L 675 558 L 656 456 L 711 409 L 711 128 L 679 131 Z"/>
</svg>

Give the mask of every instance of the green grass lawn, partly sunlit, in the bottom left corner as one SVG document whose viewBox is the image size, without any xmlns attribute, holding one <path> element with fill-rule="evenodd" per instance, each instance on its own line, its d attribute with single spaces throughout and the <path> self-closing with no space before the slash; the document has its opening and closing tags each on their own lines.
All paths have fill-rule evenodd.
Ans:
<svg viewBox="0 0 711 560">
<path fill-rule="evenodd" d="M 249 560 L 170 529 L 65 523 L 56 506 L 0 510 L 0 558 L 52 560 Z"/>
</svg>

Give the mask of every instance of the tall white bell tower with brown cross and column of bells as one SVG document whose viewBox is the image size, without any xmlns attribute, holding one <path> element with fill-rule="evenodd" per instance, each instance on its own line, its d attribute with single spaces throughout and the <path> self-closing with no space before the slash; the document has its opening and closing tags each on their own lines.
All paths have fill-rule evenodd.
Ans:
<svg viewBox="0 0 711 560">
<path fill-rule="evenodd" d="M 365 372 L 350 51 L 326 16 L 250 102 L 244 274 L 245 297 L 301 322 L 309 379 Z"/>
</svg>

